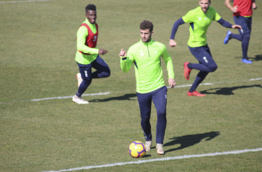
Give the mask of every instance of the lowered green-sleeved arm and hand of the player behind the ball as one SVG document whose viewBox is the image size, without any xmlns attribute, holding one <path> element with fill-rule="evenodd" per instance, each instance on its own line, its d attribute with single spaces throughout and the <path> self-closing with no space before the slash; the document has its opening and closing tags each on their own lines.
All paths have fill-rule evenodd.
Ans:
<svg viewBox="0 0 262 172">
<path fill-rule="evenodd" d="M 174 67 L 172 58 L 168 54 L 168 50 L 166 50 L 165 45 L 163 45 L 161 57 L 165 61 L 166 69 L 168 70 L 168 84 L 171 88 L 173 88 L 176 85 L 176 81 L 174 80 Z"/>
</svg>

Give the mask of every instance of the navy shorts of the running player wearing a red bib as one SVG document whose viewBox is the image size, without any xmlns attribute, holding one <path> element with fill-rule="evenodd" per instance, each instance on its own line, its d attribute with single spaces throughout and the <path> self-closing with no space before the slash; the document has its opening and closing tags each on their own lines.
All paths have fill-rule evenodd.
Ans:
<svg viewBox="0 0 262 172">
<path fill-rule="evenodd" d="M 110 75 L 108 64 L 106 64 L 103 58 L 101 58 L 100 56 L 97 56 L 97 58 L 88 65 L 82 65 L 80 63 L 77 63 L 77 65 L 79 66 L 79 72 L 83 80 L 92 80 L 92 78 L 103 78 L 108 76 L 108 74 Z M 94 69 L 97 69 L 97 72 L 94 72 L 92 74 L 92 67 Z"/>
</svg>

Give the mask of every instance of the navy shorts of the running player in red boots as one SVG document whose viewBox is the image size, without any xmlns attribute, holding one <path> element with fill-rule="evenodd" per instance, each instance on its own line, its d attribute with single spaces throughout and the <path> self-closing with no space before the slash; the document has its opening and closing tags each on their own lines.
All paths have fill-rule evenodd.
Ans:
<svg viewBox="0 0 262 172">
<path fill-rule="evenodd" d="M 193 56 L 201 63 L 202 65 L 209 66 L 214 63 L 212 58 L 212 54 L 208 45 L 201 46 L 201 47 L 189 47 L 190 52 Z"/>
</svg>

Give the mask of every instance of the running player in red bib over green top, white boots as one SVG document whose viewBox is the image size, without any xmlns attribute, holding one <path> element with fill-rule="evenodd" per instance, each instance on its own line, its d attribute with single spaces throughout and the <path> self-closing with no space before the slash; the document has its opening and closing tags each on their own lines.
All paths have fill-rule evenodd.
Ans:
<svg viewBox="0 0 262 172">
<path fill-rule="evenodd" d="M 78 104 L 88 104 L 81 95 L 92 82 L 92 78 L 106 78 L 110 76 L 110 69 L 99 54 L 108 53 L 107 50 L 97 49 L 97 37 L 99 28 L 96 23 L 97 9 L 93 4 L 85 7 L 85 21 L 77 32 L 77 54 L 75 61 L 79 66 L 79 72 L 83 81 L 79 85 L 77 94 L 73 96 L 73 102 Z M 96 72 L 92 72 L 92 67 Z"/>
</svg>

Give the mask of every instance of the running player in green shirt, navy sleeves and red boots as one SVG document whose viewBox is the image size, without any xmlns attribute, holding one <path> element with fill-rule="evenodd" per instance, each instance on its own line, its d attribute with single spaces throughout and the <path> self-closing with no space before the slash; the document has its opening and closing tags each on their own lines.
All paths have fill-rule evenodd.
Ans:
<svg viewBox="0 0 262 172">
<path fill-rule="evenodd" d="M 219 14 L 210 7 L 210 0 L 199 0 L 199 7 L 194 10 L 190 10 L 185 16 L 177 20 L 172 28 L 170 36 L 170 47 L 176 47 L 177 43 L 174 41 L 174 36 L 177 33 L 179 25 L 184 23 L 190 23 L 190 38 L 188 40 L 188 47 L 193 56 L 199 61 L 199 63 L 184 63 L 184 76 L 186 80 L 190 78 L 190 72 L 192 69 L 198 69 L 200 72 L 197 74 L 196 79 L 190 90 L 188 96 L 205 96 L 196 92 L 196 88 L 205 79 L 205 76 L 209 72 L 214 72 L 217 68 L 214 62 L 208 43 L 206 41 L 205 34 L 208 32 L 208 27 L 212 21 L 217 21 L 225 28 L 241 28 L 240 25 L 232 25 L 228 21 L 224 21 Z"/>
</svg>

